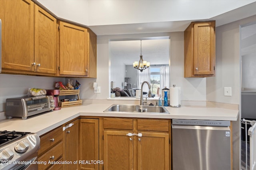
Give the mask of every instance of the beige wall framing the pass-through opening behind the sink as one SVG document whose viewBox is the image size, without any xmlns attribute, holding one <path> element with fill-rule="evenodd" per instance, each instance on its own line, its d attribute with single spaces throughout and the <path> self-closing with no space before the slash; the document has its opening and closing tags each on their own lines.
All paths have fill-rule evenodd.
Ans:
<svg viewBox="0 0 256 170">
<path fill-rule="evenodd" d="M 109 45 L 110 39 L 140 38 L 170 36 L 170 84 L 176 84 L 182 89 L 181 100 L 206 101 L 206 79 L 205 78 L 184 78 L 184 37 L 183 32 L 172 33 L 151 33 L 151 34 L 129 34 L 129 35 L 105 35 L 98 36 L 97 40 L 97 79 L 98 86 L 101 87 L 100 94 L 81 94 L 82 98 L 106 99 L 110 92 L 109 79 Z M 87 82 L 88 80 L 81 80 Z M 92 83 L 92 82 L 91 82 Z M 92 85 L 90 85 L 92 89 Z M 89 90 L 89 89 L 88 89 Z M 88 94 L 88 93 L 87 93 Z"/>
</svg>

